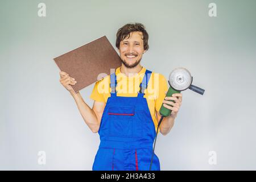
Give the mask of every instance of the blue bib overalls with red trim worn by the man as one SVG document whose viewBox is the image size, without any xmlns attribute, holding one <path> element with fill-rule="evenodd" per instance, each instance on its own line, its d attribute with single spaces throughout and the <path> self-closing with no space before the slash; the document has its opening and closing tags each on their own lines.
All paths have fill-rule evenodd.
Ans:
<svg viewBox="0 0 256 182">
<path fill-rule="evenodd" d="M 93 170 L 149 170 L 156 131 L 143 96 L 150 76 L 151 71 L 146 70 L 137 97 L 119 97 L 115 73 L 110 75 L 112 92 L 98 130 L 101 142 Z M 160 170 L 155 154 L 151 170 Z"/>
</svg>

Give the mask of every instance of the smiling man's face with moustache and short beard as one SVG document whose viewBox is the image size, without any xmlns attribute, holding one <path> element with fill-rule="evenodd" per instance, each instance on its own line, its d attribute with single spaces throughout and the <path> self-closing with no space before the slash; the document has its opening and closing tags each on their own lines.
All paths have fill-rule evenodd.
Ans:
<svg viewBox="0 0 256 182">
<path fill-rule="evenodd" d="M 142 38 L 142 32 L 131 32 L 129 39 L 126 37 L 120 42 L 118 51 L 125 67 L 134 68 L 141 61 L 143 53 L 146 52 Z"/>
</svg>

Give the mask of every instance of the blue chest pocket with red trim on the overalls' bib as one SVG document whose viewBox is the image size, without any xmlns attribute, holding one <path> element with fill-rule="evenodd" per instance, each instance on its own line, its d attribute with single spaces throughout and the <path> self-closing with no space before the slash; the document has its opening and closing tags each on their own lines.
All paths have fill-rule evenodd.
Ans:
<svg viewBox="0 0 256 182">
<path fill-rule="evenodd" d="M 133 137 L 134 106 L 110 106 L 109 135 Z"/>
</svg>

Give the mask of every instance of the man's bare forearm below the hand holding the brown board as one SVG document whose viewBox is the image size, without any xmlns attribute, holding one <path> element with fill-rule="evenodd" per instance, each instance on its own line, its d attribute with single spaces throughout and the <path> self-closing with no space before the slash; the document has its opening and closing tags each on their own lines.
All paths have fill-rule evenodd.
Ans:
<svg viewBox="0 0 256 182">
<path fill-rule="evenodd" d="M 75 99 L 76 105 L 80 111 L 80 114 L 82 115 L 82 118 L 84 119 L 86 125 L 89 126 L 90 130 L 92 130 L 93 133 L 98 132 L 99 123 L 97 120 L 97 116 L 94 113 L 94 111 L 84 102 L 82 99 L 82 96 L 79 92 L 77 93 L 71 93 L 71 96 Z"/>
</svg>

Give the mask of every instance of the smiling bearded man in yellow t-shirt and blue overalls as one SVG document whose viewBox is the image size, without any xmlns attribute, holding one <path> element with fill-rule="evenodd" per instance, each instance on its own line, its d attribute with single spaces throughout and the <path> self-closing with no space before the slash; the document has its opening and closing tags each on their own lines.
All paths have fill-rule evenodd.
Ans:
<svg viewBox="0 0 256 182">
<path fill-rule="evenodd" d="M 148 50 L 148 34 L 143 24 L 119 28 L 115 46 L 122 65 L 96 82 L 90 95 L 94 100 L 92 109 L 79 92 L 74 93 L 69 87 L 76 84 L 75 79 L 60 72 L 60 81 L 71 92 L 90 130 L 100 135 L 93 170 L 148 170 L 161 118 L 160 107 L 164 103 L 164 107 L 172 110 L 160 125 L 160 133 L 166 135 L 174 125 L 182 95 L 165 97 L 168 88 L 164 76 L 142 67 L 142 56 Z M 151 169 L 160 170 L 155 154 Z"/>
</svg>

